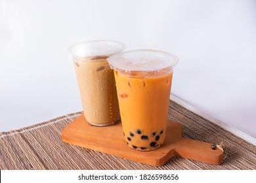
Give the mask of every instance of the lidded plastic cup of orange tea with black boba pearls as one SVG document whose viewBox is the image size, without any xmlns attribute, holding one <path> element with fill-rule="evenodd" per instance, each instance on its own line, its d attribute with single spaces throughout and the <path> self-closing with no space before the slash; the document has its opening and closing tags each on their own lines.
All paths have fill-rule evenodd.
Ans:
<svg viewBox="0 0 256 183">
<path fill-rule="evenodd" d="M 140 151 L 165 140 L 173 67 L 177 56 L 159 50 L 132 50 L 108 58 L 114 69 L 123 135 Z"/>
</svg>

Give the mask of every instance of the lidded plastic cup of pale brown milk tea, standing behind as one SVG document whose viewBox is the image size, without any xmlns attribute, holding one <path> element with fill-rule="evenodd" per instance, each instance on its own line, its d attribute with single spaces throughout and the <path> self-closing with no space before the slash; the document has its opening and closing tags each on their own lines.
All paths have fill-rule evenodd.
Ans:
<svg viewBox="0 0 256 183">
<path fill-rule="evenodd" d="M 68 48 L 74 61 L 83 114 L 91 125 L 113 125 L 120 118 L 114 73 L 106 59 L 125 47 L 115 41 L 88 41 Z"/>
</svg>

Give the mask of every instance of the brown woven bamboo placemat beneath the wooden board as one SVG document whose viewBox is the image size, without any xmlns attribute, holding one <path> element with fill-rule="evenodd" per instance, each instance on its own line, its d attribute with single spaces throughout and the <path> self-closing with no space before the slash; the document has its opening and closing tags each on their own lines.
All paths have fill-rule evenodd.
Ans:
<svg viewBox="0 0 256 183">
<path fill-rule="evenodd" d="M 153 167 L 62 142 L 62 129 L 79 115 L 81 112 L 75 112 L 30 127 L 0 132 L 0 169 L 256 169 L 256 146 L 174 101 L 169 103 L 169 120 L 184 126 L 186 138 L 222 143 L 221 165 L 175 157 L 161 167 Z"/>
</svg>

